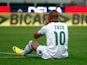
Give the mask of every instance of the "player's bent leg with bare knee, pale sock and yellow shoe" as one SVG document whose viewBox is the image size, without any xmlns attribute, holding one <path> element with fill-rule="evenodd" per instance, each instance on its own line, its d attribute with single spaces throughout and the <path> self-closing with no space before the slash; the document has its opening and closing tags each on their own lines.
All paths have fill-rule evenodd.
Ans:
<svg viewBox="0 0 87 65">
<path fill-rule="evenodd" d="M 13 46 L 13 51 L 18 55 L 25 56 L 28 53 L 31 53 L 33 50 L 36 51 L 38 46 L 39 46 L 39 44 L 37 42 L 30 40 L 29 43 L 25 46 L 24 50 L 22 50 L 16 46 Z"/>
</svg>

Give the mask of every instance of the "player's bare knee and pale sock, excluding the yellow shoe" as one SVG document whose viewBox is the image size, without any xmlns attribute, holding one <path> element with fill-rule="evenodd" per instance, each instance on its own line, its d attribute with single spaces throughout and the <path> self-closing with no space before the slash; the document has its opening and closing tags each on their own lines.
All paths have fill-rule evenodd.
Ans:
<svg viewBox="0 0 87 65">
<path fill-rule="evenodd" d="M 36 51 L 38 46 L 39 44 L 37 42 L 29 41 L 29 43 L 24 48 L 22 55 L 25 56 L 26 54 L 31 53 L 33 50 Z"/>
</svg>

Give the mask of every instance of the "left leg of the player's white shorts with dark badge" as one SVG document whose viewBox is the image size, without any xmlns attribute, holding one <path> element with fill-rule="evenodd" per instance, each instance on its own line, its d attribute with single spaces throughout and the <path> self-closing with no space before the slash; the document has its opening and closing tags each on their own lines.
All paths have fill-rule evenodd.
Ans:
<svg viewBox="0 0 87 65">
<path fill-rule="evenodd" d="M 47 53 L 46 46 L 38 46 L 37 48 L 37 55 L 43 59 L 49 59 L 51 56 Z"/>
</svg>

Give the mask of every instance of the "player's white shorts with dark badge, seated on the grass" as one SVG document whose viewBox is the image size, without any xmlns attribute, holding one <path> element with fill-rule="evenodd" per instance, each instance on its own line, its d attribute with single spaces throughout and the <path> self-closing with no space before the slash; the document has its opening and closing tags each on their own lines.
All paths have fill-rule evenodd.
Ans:
<svg viewBox="0 0 87 65">
<path fill-rule="evenodd" d="M 68 57 L 68 52 L 66 51 L 64 54 L 60 54 L 59 52 L 56 54 L 56 57 L 53 57 L 51 54 L 49 54 L 49 52 L 47 51 L 47 47 L 46 46 L 38 46 L 37 48 L 37 55 L 43 59 L 49 59 L 49 58 L 66 58 Z"/>
</svg>

